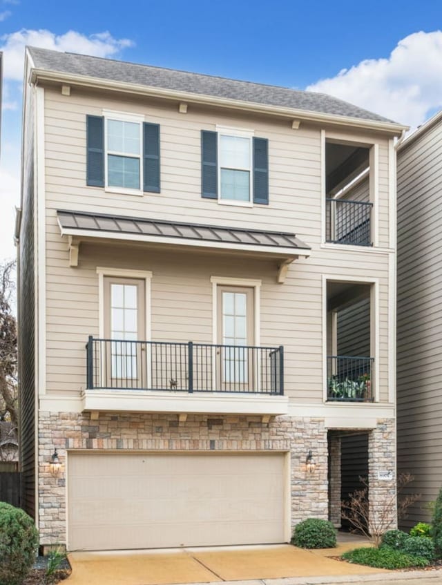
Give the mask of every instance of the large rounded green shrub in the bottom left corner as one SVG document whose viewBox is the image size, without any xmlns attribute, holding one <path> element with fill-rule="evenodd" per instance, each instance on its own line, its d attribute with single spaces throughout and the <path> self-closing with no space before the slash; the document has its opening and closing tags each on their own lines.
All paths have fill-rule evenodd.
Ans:
<svg viewBox="0 0 442 585">
<path fill-rule="evenodd" d="M 0 585 L 20 585 L 35 561 L 39 535 L 19 508 L 0 502 Z"/>
</svg>

